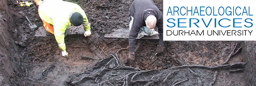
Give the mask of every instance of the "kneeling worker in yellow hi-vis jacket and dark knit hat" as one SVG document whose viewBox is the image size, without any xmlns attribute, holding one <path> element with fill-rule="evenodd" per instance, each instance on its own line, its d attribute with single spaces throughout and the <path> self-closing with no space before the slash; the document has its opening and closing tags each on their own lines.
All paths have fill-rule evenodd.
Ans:
<svg viewBox="0 0 256 86">
<path fill-rule="evenodd" d="M 69 26 L 84 26 L 84 36 L 91 35 L 90 24 L 84 10 L 77 4 L 62 0 L 34 0 L 44 28 L 54 34 L 62 56 L 68 56 L 64 41 L 65 31 Z"/>
</svg>

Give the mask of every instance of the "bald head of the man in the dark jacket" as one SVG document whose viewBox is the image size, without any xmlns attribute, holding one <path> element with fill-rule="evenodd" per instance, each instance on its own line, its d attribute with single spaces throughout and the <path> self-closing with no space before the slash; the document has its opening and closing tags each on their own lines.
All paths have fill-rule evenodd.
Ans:
<svg viewBox="0 0 256 86">
<path fill-rule="evenodd" d="M 155 28 L 156 17 L 154 15 L 147 16 L 145 23 L 146 23 L 147 28 L 149 28 L 149 29 Z"/>
</svg>

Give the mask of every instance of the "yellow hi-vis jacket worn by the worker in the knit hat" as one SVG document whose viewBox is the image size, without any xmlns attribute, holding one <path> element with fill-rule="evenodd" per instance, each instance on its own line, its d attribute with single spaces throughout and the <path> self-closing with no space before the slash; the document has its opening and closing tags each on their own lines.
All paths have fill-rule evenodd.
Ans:
<svg viewBox="0 0 256 86">
<path fill-rule="evenodd" d="M 70 18 L 72 13 L 79 12 L 84 17 L 84 30 L 90 30 L 90 24 L 84 10 L 77 4 L 62 0 L 44 0 L 39 8 L 38 13 L 42 20 L 54 26 L 54 36 L 61 51 L 66 51 L 64 42 L 65 30 L 71 25 Z"/>
</svg>

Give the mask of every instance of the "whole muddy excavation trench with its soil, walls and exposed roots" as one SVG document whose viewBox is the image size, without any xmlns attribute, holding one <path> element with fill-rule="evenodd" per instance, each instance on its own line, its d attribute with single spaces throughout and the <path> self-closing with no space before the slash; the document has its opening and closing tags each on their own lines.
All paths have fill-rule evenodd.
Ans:
<svg viewBox="0 0 256 86">
<path fill-rule="evenodd" d="M 128 67 L 128 39 L 104 35 L 128 29 L 133 0 L 67 1 L 83 8 L 92 32 L 65 37 L 68 58 L 61 56 L 54 36 L 34 37 L 42 26 L 37 8 L 0 1 L 0 85 L 255 85 L 255 41 L 165 41 L 165 51 L 152 62 L 158 40 L 138 39 L 136 59 Z M 153 1 L 162 11 L 163 1 Z M 25 16 L 38 27 L 31 28 Z"/>
</svg>

